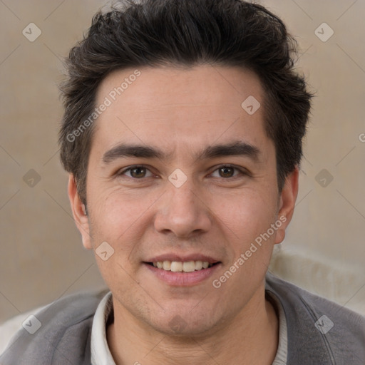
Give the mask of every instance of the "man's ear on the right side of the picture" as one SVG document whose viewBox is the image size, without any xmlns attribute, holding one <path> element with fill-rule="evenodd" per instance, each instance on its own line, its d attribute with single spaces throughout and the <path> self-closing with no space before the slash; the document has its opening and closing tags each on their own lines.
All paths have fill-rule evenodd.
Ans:
<svg viewBox="0 0 365 365">
<path fill-rule="evenodd" d="M 295 202 L 298 195 L 298 180 L 299 180 L 299 168 L 298 166 L 287 175 L 285 179 L 285 184 L 282 189 L 282 193 L 279 199 L 279 212 L 278 220 L 282 222 L 282 225 L 277 229 L 277 234 L 275 237 L 275 243 L 280 243 L 284 241 L 285 230 L 292 220 L 294 213 Z"/>
</svg>

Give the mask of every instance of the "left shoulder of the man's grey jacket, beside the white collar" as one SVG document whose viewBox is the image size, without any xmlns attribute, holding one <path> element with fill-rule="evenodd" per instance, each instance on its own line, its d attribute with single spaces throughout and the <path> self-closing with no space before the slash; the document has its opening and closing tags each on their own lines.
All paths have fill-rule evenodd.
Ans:
<svg viewBox="0 0 365 365">
<path fill-rule="evenodd" d="M 68 295 L 31 314 L 0 356 L 1 365 L 87 364 L 93 316 L 107 292 Z"/>
</svg>

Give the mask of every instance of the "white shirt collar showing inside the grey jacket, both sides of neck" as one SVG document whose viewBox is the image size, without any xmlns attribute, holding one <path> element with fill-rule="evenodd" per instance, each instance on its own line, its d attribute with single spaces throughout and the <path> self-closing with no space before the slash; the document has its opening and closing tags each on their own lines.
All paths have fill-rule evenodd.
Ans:
<svg viewBox="0 0 365 365">
<path fill-rule="evenodd" d="M 279 299 L 274 294 L 267 293 L 276 304 L 279 314 L 279 346 L 272 365 L 287 364 L 287 320 L 284 309 Z M 110 353 L 108 342 L 106 341 L 106 324 L 113 311 L 113 297 L 108 292 L 101 300 L 93 318 L 91 329 L 91 364 L 92 365 L 115 365 L 113 356 Z"/>
</svg>

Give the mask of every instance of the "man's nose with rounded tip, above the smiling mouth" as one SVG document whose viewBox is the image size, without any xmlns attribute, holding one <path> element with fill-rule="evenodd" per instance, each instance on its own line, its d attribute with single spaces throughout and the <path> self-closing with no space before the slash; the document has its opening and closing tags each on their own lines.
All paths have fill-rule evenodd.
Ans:
<svg viewBox="0 0 365 365">
<path fill-rule="evenodd" d="M 189 179 L 181 187 L 168 186 L 155 216 L 158 232 L 173 232 L 176 237 L 190 238 L 208 232 L 211 226 L 209 202 Z"/>
</svg>

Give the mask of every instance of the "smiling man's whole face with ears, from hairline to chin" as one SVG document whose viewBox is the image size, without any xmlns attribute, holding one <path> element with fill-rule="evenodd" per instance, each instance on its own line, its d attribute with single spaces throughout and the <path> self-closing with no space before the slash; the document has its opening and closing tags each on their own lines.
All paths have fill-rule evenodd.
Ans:
<svg viewBox="0 0 365 365">
<path fill-rule="evenodd" d="M 95 122 L 88 216 L 72 177 L 69 194 L 116 314 L 166 334 L 207 334 L 264 300 L 297 170 L 279 194 L 264 110 L 253 99 L 242 107 L 249 96 L 263 105 L 257 76 L 222 66 L 129 69 L 101 83 L 96 105 L 110 105 Z"/>
</svg>

